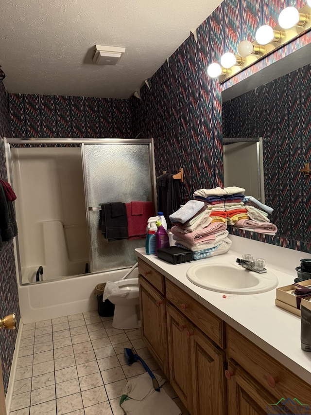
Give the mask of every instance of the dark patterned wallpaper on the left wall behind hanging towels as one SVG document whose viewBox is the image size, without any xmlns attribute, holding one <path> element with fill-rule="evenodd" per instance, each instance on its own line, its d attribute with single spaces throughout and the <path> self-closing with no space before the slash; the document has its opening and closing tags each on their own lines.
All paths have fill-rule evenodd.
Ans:
<svg viewBox="0 0 311 415">
<path fill-rule="evenodd" d="M 0 82 L 0 178 L 7 180 L 3 136 L 10 137 L 11 132 L 7 95 L 2 82 Z M 20 319 L 13 242 L 8 242 L 0 251 L 0 293 L 0 317 L 13 312 L 17 317 L 16 330 L 0 330 L 0 357 L 6 392 Z"/>
</svg>

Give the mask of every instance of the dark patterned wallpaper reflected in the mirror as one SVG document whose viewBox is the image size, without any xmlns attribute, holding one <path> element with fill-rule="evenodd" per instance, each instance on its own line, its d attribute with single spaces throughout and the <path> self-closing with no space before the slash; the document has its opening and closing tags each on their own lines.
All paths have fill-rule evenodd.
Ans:
<svg viewBox="0 0 311 415">
<path fill-rule="evenodd" d="M 223 104 L 224 137 L 263 137 L 266 204 L 277 235 L 311 242 L 311 65 Z"/>
</svg>

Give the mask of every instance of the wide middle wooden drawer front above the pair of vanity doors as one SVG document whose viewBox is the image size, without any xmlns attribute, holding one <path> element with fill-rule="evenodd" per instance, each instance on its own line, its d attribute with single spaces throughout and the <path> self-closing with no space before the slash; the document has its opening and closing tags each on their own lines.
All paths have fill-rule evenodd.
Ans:
<svg viewBox="0 0 311 415">
<path fill-rule="evenodd" d="M 168 279 L 165 285 L 166 298 L 213 342 L 224 348 L 224 322 Z"/>
</svg>

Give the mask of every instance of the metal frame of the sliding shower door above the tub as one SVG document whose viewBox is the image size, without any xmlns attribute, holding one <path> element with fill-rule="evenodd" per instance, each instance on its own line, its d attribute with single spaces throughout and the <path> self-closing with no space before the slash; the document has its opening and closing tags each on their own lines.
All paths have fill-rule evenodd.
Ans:
<svg viewBox="0 0 311 415">
<path fill-rule="evenodd" d="M 151 194 L 153 197 L 153 203 L 155 206 L 155 212 L 157 211 L 157 203 L 156 203 L 156 179 L 155 179 L 155 152 L 154 152 L 154 139 L 138 139 L 138 138 L 3 138 L 4 141 L 4 149 L 5 149 L 5 160 L 7 166 L 7 175 L 8 180 L 14 187 L 13 182 L 13 173 L 12 173 L 12 157 L 11 157 L 11 144 L 148 144 L 148 153 L 149 153 L 149 166 L 150 166 L 150 180 L 151 180 Z M 22 147 L 21 147 L 22 148 Z M 83 152 L 83 145 L 80 145 L 81 149 L 81 162 L 82 162 L 82 169 L 83 169 L 83 185 L 84 185 L 84 193 L 85 193 L 85 203 L 86 203 L 86 223 L 87 223 L 87 233 L 88 233 L 88 251 L 89 251 L 89 261 L 92 261 L 91 256 L 91 239 L 90 239 L 90 219 L 89 219 L 89 212 L 88 212 L 88 199 L 87 199 L 87 186 L 85 183 L 85 157 Z M 103 271 L 95 271 L 90 272 L 89 274 L 77 274 L 77 275 L 66 275 L 60 278 L 55 278 L 47 281 L 36 281 L 36 282 L 29 282 L 23 283 L 22 282 L 22 272 L 21 272 L 21 264 L 20 264 L 20 255 L 19 255 L 19 246 L 18 246 L 18 235 L 13 239 L 14 242 L 14 256 L 15 256 L 15 264 L 16 264 L 16 272 L 17 272 L 17 280 L 19 281 L 20 286 L 29 286 L 35 284 L 42 284 L 54 281 L 61 281 L 69 278 L 76 278 L 85 275 L 96 275 L 101 274 L 104 272 L 111 272 L 111 271 L 119 271 L 123 269 L 128 269 L 131 267 L 117 267 L 112 268 L 109 270 Z M 90 263 L 91 268 L 92 264 Z"/>
</svg>

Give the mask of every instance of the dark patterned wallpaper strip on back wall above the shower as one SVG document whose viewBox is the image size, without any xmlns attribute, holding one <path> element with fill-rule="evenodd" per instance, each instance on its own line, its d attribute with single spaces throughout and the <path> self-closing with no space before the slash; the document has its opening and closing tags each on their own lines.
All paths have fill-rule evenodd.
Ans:
<svg viewBox="0 0 311 415">
<path fill-rule="evenodd" d="M 132 138 L 124 99 L 9 94 L 12 137 Z"/>
</svg>

